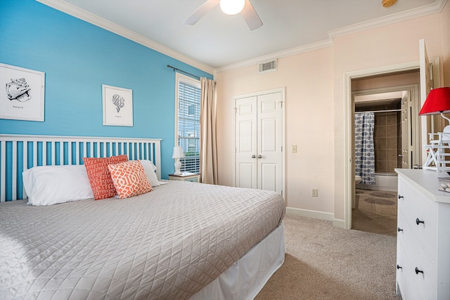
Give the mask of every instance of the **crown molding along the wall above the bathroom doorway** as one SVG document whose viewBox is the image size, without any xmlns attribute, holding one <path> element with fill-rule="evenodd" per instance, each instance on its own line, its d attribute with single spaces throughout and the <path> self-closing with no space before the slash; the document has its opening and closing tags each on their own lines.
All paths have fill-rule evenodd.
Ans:
<svg viewBox="0 0 450 300">
<path fill-rule="evenodd" d="M 340 37 L 346 34 L 352 34 L 354 32 L 360 32 L 363 30 L 369 30 L 371 28 L 389 25 L 395 22 L 401 22 L 412 18 L 422 17 L 424 15 L 430 15 L 432 13 L 440 13 L 444 8 L 447 0 L 436 0 L 433 4 L 428 4 L 419 8 L 413 8 L 408 11 L 402 11 L 400 13 L 393 13 L 385 17 L 376 18 L 367 22 L 360 22 L 354 25 L 338 28 L 337 30 L 330 30 L 328 35 L 331 39 Z"/>
</svg>

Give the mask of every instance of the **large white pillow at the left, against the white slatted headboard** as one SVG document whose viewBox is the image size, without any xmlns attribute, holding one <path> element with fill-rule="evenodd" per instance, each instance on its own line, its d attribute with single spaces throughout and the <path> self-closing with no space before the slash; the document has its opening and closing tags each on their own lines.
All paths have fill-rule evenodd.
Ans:
<svg viewBox="0 0 450 300">
<path fill-rule="evenodd" d="M 84 165 L 33 167 L 22 174 L 32 205 L 51 205 L 94 198 Z"/>
</svg>

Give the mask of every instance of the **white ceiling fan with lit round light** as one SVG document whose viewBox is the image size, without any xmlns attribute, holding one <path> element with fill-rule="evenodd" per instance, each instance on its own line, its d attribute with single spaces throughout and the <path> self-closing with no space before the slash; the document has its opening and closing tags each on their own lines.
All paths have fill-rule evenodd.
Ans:
<svg viewBox="0 0 450 300">
<path fill-rule="evenodd" d="M 255 30 L 262 26 L 262 21 L 253 8 L 250 0 L 207 0 L 202 6 L 197 8 L 186 20 L 185 24 L 194 25 L 198 20 L 203 18 L 217 4 L 220 4 L 221 10 L 228 15 L 236 15 L 241 13 L 247 22 L 250 30 Z"/>
</svg>

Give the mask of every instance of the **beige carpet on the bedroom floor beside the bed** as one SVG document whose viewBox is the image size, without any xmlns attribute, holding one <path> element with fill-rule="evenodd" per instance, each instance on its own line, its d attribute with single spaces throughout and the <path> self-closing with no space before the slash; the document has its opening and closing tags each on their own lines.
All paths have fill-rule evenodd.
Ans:
<svg viewBox="0 0 450 300">
<path fill-rule="evenodd" d="M 286 216 L 285 262 L 263 299 L 401 299 L 395 292 L 396 237 Z"/>
</svg>

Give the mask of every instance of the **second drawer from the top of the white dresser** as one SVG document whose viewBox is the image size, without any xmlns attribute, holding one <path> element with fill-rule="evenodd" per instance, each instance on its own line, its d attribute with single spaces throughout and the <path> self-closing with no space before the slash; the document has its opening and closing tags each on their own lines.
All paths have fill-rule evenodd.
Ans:
<svg viewBox="0 0 450 300">
<path fill-rule="evenodd" d="M 397 231 L 397 247 L 403 249 L 405 254 L 404 259 L 407 259 L 408 262 L 408 267 L 405 266 L 403 271 L 406 272 L 406 270 L 408 270 L 408 272 L 411 273 L 411 277 L 414 278 L 414 281 L 418 285 L 421 294 L 425 296 L 425 299 L 435 299 L 436 292 L 433 288 L 436 282 L 437 267 L 435 266 L 435 263 L 425 252 L 425 249 L 418 241 L 410 224 L 406 222 L 404 214 L 400 211 L 397 224 L 400 229 Z M 405 261 L 402 263 L 406 265 Z M 416 268 L 418 270 L 417 272 Z"/>
</svg>

